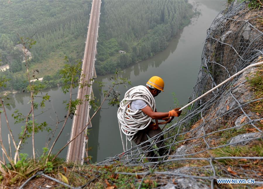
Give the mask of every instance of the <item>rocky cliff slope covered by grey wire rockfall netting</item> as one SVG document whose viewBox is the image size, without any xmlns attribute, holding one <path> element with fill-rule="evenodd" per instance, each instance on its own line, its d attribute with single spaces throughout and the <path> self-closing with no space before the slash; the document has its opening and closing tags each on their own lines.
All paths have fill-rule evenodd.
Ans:
<svg viewBox="0 0 263 189">
<path fill-rule="evenodd" d="M 207 30 L 202 64 L 189 102 L 249 64 L 262 61 L 262 8 L 249 9 L 247 4 L 234 2 L 218 14 Z M 255 183 L 263 184 L 262 163 L 257 164 L 263 159 L 262 150 L 257 150 L 262 147 L 263 96 L 256 96 L 251 84 L 255 77 L 262 76 L 262 69 L 251 68 L 194 103 L 184 118 L 146 141 L 151 143 L 147 151 L 134 146 L 98 165 L 120 161 L 126 166 L 149 166 L 149 171 L 136 174 L 198 179 L 211 188 L 217 178 L 254 178 Z M 158 156 L 155 141 L 161 135 L 165 144 L 161 148 L 167 149 L 167 155 L 149 162 L 144 154 L 154 151 Z M 160 172 L 157 169 L 161 164 L 176 165 Z"/>
</svg>

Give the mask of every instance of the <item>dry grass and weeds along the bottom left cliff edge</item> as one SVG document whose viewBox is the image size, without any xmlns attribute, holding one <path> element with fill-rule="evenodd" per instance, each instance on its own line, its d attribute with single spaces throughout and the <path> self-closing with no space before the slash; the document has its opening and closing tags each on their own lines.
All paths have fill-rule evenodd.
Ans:
<svg viewBox="0 0 263 189">
<path fill-rule="evenodd" d="M 41 171 L 40 165 L 36 166 L 38 169 L 35 172 L 32 172 L 30 175 L 23 176 L 23 179 L 20 179 L 19 182 L 11 183 L 11 179 L 6 179 L 2 182 L 2 186 L 8 187 L 17 187 L 21 185 L 26 178 L 29 178 L 37 171 Z M 141 166 L 135 167 L 126 167 L 120 163 L 112 164 L 110 166 L 95 166 L 95 165 L 78 165 L 78 164 L 66 164 L 61 163 L 53 166 L 52 170 L 45 173 L 53 178 L 58 179 L 64 183 L 68 183 L 71 186 L 78 187 L 87 184 L 85 188 L 137 188 L 138 184 L 142 181 L 142 176 L 140 175 L 123 175 L 116 174 L 114 172 L 128 172 L 128 173 L 140 173 L 145 171 L 146 168 Z M 15 174 L 13 176 L 18 176 Z M 10 175 L 11 178 L 11 175 Z M 46 185 L 63 188 L 63 185 L 56 183 L 44 176 L 39 176 L 32 179 L 25 188 L 41 186 L 45 187 Z M 157 181 L 152 180 L 150 176 L 147 176 L 142 183 L 142 187 L 145 188 L 154 188 L 157 187 Z"/>
</svg>

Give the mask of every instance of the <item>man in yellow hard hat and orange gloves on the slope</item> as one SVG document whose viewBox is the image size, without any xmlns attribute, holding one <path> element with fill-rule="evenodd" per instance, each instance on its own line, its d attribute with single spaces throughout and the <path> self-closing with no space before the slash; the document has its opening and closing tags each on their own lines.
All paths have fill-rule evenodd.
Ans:
<svg viewBox="0 0 263 189">
<path fill-rule="evenodd" d="M 158 76 L 153 76 L 149 79 L 149 81 L 146 83 L 147 89 L 150 91 L 153 97 L 156 97 L 161 91 L 164 91 L 164 80 L 161 79 Z M 169 112 L 155 112 L 152 110 L 152 108 L 147 105 L 147 103 L 143 100 L 133 100 L 131 102 L 131 107 L 132 110 L 141 110 L 143 113 L 148 115 L 152 119 L 156 120 L 168 120 L 170 117 L 175 116 L 178 117 L 181 114 L 181 111 L 179 111 L 180 108 L 175 108 Z M 139 145 L 142 142 L 145 142 L 148 140 L 147 135 L 152 138 L 155 135 L 159 134 L 161 132 L 161 128 L 156 125 L 154 122 L 151 122 L 151 124 L 146 127 L 143 130 L 139 130 L 133 137 L 133 142 L 135 144 Z M 164 136 L 161 135 L 157 140 L 156 140 L 156 146 L 158 148 L 165 146 L 164 144 Z M 152 149 L 149 149 L 150 143 L 144 143 L 141 145 L 142 149 L 144 151 L 147 150 L 147 153 L 145 156 L 147 157 L 157 157 L 154 154 L 154 151 Z M 152 151 L 151 151 L 152 150 Z M 159 156 L 165 155 L 167 149 L 166 148 L 160 148 L 158 150 Z M 158 160 L 156 158 L 148 158 L 148 161 L 155 161 Z"/>
</svg>

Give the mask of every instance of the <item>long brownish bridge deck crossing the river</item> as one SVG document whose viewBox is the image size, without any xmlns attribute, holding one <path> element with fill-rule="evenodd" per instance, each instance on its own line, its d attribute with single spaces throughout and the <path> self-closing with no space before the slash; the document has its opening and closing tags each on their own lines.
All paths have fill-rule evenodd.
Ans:
<svg viewBox="0 0 263 189">
<path fill-rule="evenodd" d="M 88 81 L 91 84 L 90 79 L 96 76 L 94 62 L 96 55 L 96 44 L 98 37 L 99 28 L 99 15 L 100 15 L 100 5 L 101 0 L 93 0 L 92 8 L 90 14 L 89 27 L 86 38 L 86 45 L 84 51 L 84 57 L 82 62 L 82 74 L 85 74 L 85 78 L 82 79 L 82 83 Z M 91 97 L 92 87 L 84 87 L 78 89 L 77 98 L 85 99 L 85 95 Z M 71 137 L 73 139 L 78 133 L 80 133 L 83 128 L 87 125 L 89 121 L 89 102 L 83 101 L 83 104 L 78 105 L 75 112 L 72 128 Z M 91 124 L 90 124 L 91 125 Z M 87 127 L 85 132 L 82 132 L 74 141 L 72 141 L 68 146 L 67 162 L 78 162 L 83 164 L 84 154 L 85 154 L 85 143 L 87 142 Z"/>
</svg>

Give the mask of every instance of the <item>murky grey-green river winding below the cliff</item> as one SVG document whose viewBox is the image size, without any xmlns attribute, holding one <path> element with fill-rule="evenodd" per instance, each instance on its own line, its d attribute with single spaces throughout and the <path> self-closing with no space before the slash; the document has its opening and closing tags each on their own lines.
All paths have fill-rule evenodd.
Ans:
<svg viewBox="0 0 263 189">
<path fill-rule="evenodd" d="M 183 28 L 170 42 L 169 46 L 163 52 L 159 52 L 154 57 L 142 62 L 138 62 L 131 67 L 123 69 L 121 77 L 127 77 L 131 81 L 132 86 L 144 85 L 151 76 L 157 75 L 164 79 L 164 92 L 160 93 L 156 98 L 157 110 L 159 112 L 168 112 L 174 105 L 174 97 L 180 105 L 185 105 L 188 102 L 188 97 L 192 92 L 195 84 L 197 73 L 201 63 L 202 49 L 206 37 L 206 30 L 209 28 L 213 19 L 223 8 L 225 1 L 189 1 L 194 8 L 200 11 L 200 15 L 191 19 L 191 23 Z M 113 74 L 98 76 L 95 81 L 102 81 L 106 86 L 110 84 L 108 78 Z M 106 90 L 107 87 L 101 88 Z M 128 86 L 129 88 L 132 86 Z M 126 92 L 125 87 L 117 89 L 121 92 L 121 97 Z M 93 85 L 94 96 L 99 100 L 102 94 L 96 83 Z M 51 101 L 46 103 L 44 109 L 36 110 L 35 115 L 37 122 L 46 121 L 49 126 L 54 129 L 56 116 L 59 120 L 63 120 L 66 114 L 64 100 L 68 100 L 69 95 L 64 94 L 60 87 L 50 88 L 44 90 L 43 94 L 48 93 L 51 96 Z M 77 89 L 73 91 L 77 93 Z M 76 98 L 76 95 L 73 95 Z M 21 113 L 26 115 L 30 110 L 30 95 L 28 93 L 17 93 L 10 96 L 10 107 L 7 107 L 7 114 L 9 124 L 13 131 L 16 140 L 18 134 L 21 132 L 20 124 L 14 124 L 11 117 L 12 113 L 18 109 Z M 36 101 L 40 99 L 36 98 Z M 117 107 L 109 107 L 106 103 L 103 109 L 92 119 L 92 129 L 89 131 L 88 146 L 89 156 L 92 156 L 91 161 L 99 162 L 109 156 L 114 156 L 122 152 L 122 143 L 120 138 L 120 131 L 117 120 Z M 90 113 L 90 115 L 92 112 Z M 175 120 L 176 121 L 176 120 Z M 2 122 L 2 137 L 5 146 L 8 145 L 8 130 L 4 120 L 4 115 L 1 116 Z M 66 144 L 71 132 L 72 119 L 66 124 L 66 127 L 61 134 L 58 142 L 54 147 L 54 151 L 60 149 Z M 59 125 L 61 127 L 61 124 Z M 35 135 L 35 148 L 37 154 L 42 154 L 42 147 L 49 140 L 51 135 L 47 132 L 40 132 Z M 52 140 L 51 140 L 52 141 Z M 25 144 L 21 153 L 32 155 L 31 138 L 28 139 L 28 144 Z M 67 148 L 62 151 L 60 157 L 66 158 Z M 2 154 L 2 152 L 1 152 Z"/>
</svg>

